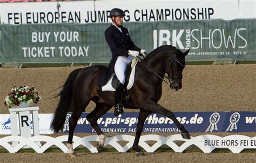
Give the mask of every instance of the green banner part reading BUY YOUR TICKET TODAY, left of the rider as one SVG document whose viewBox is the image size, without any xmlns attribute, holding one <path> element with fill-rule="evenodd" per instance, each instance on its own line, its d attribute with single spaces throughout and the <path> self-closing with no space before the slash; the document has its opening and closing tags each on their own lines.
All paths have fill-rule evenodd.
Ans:
<svg viewBox="0 0 256 163">
<path fill-rule="evenodd" d="M 2 25 L 0 26 L 1 61 L 3 63 L 109 62 L 110 55 L 107 55 L 103 30 L 107 26 L 109 24 Z"/>
</svg>

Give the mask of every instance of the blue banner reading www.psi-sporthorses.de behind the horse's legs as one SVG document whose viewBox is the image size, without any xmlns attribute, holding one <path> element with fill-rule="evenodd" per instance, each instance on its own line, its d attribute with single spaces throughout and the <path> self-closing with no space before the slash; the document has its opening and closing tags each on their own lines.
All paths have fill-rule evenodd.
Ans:
<svg viewBox="0 0 256 163">
<path fill-rule="evenodd" d="M 64 133 L 69 132 L 68 113 L 64 125 Z M 95 133 L 87 121 L 89 113 L 82 113 L 75 132 Z M 138 121 L 138 112 L 127 112 L 118 117 L 106 113 L 97 121 L 103 132 L 134 133 Z M 191 133 L 196 132 L 256 132 L 256 112 L 174 112 L 177 120 Z M 180 132 L 170 118 L 152 113 L 145 120 L 143 132 Z"/>
</svg>

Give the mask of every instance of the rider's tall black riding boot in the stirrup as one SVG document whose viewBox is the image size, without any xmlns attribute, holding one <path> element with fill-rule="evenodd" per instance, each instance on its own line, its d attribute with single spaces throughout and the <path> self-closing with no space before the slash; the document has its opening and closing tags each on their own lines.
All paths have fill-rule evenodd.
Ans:
<svg viewBox="0 0 256 163">
<path fill-rule="evenodd" d="M 120 81 L 117 81 L 117 88 L 116 93 L 114 94 L 114 116 L 118 116 L 120 113 L 124 113 L 124 106 L 122 105 L 122 99 L 123 99 L 123 91 L 124 91 L 124 84 L 120 83 Z"/>
</svg>

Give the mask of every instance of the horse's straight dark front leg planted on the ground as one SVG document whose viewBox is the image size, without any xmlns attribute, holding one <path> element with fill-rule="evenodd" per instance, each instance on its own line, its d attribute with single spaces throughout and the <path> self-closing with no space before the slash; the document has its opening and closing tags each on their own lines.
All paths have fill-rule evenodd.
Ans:
<svg viewBox="0 0 256 163">
<path fill-rule="evenodd" d="M 142 109 L 140 109 L 140 112 L 139 112 L 138 124 L 136 127 L 136 136 L 132 145 L 133 150 L 137 152 L 136 155 L 138 156 L 145 155 L 142 151 L 139 150 L 139 138 L 140 138 L 140 135 L 142 134 L 144 122 L 150 113 L 151 112 L 145 112 Z"/>
</svg>

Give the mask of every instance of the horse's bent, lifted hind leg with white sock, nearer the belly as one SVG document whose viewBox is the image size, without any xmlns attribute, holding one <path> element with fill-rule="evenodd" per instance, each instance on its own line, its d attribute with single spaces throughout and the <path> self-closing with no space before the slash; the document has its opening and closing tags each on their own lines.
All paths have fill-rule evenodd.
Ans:
<svg viewBox="0 0 256 163">
<path fill-rule="evenodd" d="M 96 103 L 95 109 L 86 116 L 86 119 L 89 121 L 92 128 L 99 135 L 99 142 L 96 146 L 98 152 L 102 152 L 106 137 L 105 137 L 104 133 L 102 132 L 102 130 L 100 130 L 100 128 L 97 124 L 97 120 L 99 117 L 103 116 L 107 111 L 109 111 L 111 107 L 112 106 L 107 105 L 105 103 Z"/>
</svg>

